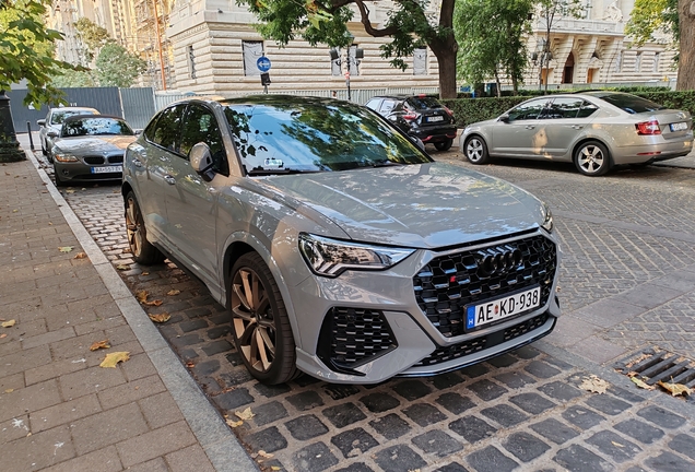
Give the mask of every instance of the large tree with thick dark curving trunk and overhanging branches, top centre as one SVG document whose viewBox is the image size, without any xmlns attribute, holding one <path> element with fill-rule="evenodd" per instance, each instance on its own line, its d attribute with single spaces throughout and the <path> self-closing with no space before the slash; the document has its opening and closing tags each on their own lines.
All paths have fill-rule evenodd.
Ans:
<svg viewBox="0 0 695 472">
<path fill-rule="evenodd" d="M 381 57 L 391 58 L 393 67 L 405 69 L 404 57 L 417 47 L 428 46 L 439 64 L 439 94 L 456 98 L 456 55 L 453 37 L 455 0 L 441 0 L 439 19 L 427 11 L 426 0 L 399 0 L 387 21 L 375 26 L 369 20 L 368 0 L 237 0 L 262 22 L 258 26 L 263 37 L 286 45 L 299 34 L 311 46 L 319 43 L 330 47 L 346 47 L 352 43 L 348 22 L 353 17 L 350 5 L 356 7 L 358 21 L 373 37 L 390 37 L 381 46 Z"/>
</svg>

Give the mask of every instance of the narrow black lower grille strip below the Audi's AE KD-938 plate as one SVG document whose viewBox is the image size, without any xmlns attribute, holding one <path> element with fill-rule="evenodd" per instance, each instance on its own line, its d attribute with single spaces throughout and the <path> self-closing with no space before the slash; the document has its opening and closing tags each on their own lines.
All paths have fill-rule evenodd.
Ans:
<svg viewBox="0 0 695 472">
<path fill-rule="evenodd" d="M 542 314 L 530 318 L 521 323 L 507 328 L 504 333 L 493 332 L 484 337 L 474 338 L 460 344 L 453 344 L 447 347 L 439 347 L 424 359 L 420 361 L 414 367 L 432 366 L 448 361 L 453 361 L 476 352 L 492 349 L 503 342 L 519 338 L 522 334 L 531 332 L 542 327 L 547 321 L 547 314 Z"/>
</svg>

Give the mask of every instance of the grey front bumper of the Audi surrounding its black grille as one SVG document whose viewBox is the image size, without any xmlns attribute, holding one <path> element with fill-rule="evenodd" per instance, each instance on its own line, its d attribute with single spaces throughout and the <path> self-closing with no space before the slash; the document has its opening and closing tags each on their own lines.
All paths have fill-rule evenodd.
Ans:
<svg viewBox="0 0 695 472">
<path fill-rule="evenodd" d="M 453 288 L 448 292 L 443 288 L 437 295 L 439 302 L 428 305 L 422 296 L 419 300 L 416 284 L 421 283 L 423 268 L 431 268 L 433 261 L 448 260 L 450 255 L 461 251 L 514 246 L 531 238 L 546 240 L 544 247 L 552 248 L 553 252 L 552 263 L 543 269 L 552 268 L 552 273 L 539 275 L 535 269 L 519 271 L 521 285 L 538 284 L 540 279 L 546 282 L 543 302 L 538 308 L 466 332 L 460 328 L 459 312 L 470 302 L 459 303 L 457 292 L 459 287 L 469 287 L 467 283 L 459 284 L 468 276 L 466 271 L 459 271 Z M 331 382 L 376 384 L 393 376 L 431 376 L 459 369 L 533 342 L 553 330 L 561 314 L 555 296 L 556 247 L 554 236 L 537 231 L 446 252 L 419 250 L 388 271 L 345 272 L 337 279 L 310 276 L 291 287 L 301 338 L 297 367 Z M 527 264 L 537 262 L 537 259 L 529 260 Z M 437 270 L 446 271 L 446 268 Z M 435 279 L 436 274 L 433 283 L 437 282 Z M 494 285 L 498 285 L 497 282 L 494 281 Z M 494 293 L 485 293 L 483 288 L 471 299 L 479 303 L 519 290 L 516 282 L 508 287 L 504 282 L 500 285 Z M 443 299 L 445 292 L 450 294 L 450 299 Z M 431 293 L 429 298 L 425 298 L 433 296 Z"/>
</svg>

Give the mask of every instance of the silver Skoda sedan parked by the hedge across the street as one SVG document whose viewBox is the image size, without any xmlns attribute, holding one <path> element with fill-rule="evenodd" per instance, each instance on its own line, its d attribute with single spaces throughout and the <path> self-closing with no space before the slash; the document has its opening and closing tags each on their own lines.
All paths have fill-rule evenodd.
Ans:
<svg viewBox="0 0 695 472">
<path fill-rule="evenodd" d="M 693 120 L 620 92 L 551 95 L 523 102 L 496 119 L 463 130 L 460 150 L 469 162 L 520 157 L 574 162 L 587 176 L 613 165 L 647 165 L 687 155 Z"/>
</svg>

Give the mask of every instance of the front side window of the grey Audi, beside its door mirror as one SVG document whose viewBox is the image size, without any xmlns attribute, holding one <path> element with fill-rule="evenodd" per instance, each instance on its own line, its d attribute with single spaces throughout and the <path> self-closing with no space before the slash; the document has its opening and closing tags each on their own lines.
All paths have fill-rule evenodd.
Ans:
<svg viewBox="0 0 695 472">
<path fill-rule="evenodd" d="M 215 172 L 229 175 L 227 154 L 217 120 L 208 108 L 201 105 L 191 105 L 186 113 L 186 120 L 181 129 L 181 154 L 188 158 L 191 148 L 199 142 L 204 142 L 210 148 Z"/>
</svg>

